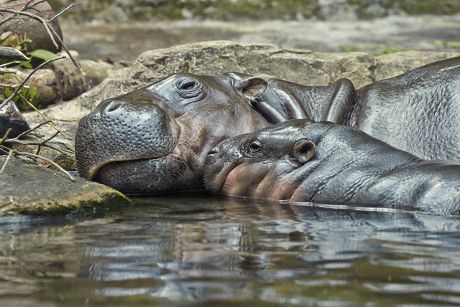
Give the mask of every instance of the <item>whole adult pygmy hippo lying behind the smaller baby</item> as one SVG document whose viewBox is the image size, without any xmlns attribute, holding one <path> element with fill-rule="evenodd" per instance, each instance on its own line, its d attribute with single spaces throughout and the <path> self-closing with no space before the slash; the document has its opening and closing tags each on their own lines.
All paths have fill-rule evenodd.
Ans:
<svg viewBox="0 0 460 307">
<path fill-rule="evenodd" d="M 359 90 L 347 79 L 304 86 L 229 73 L 175 74 L 103 101 L 79 124 L 83 177 L 128 194 L 201 190 L 221 140 L 288 119 L 357 127 L 424 159 L 460 158 L 460 58 Z"/>
</svg>

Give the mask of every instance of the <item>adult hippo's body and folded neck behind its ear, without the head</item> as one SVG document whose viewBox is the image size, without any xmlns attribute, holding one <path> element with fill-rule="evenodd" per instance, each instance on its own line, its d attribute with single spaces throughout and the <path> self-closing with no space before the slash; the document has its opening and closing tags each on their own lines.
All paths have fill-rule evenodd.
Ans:
<svg viewBox="0 0 460 307">
<path fill-rule="evenodd" d="M 460 57 L 358 90 L 348 79 L 324 87 L 268 80 L 252 104 L 274 124 L 330 121 L 356 127 L 423 159 L 460 160 Z"/>
</svg>

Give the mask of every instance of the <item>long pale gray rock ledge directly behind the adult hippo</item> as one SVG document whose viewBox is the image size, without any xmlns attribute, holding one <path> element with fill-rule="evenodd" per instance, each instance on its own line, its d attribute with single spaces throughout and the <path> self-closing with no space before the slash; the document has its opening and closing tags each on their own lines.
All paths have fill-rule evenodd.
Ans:
<svg viewBox="0 0 460 307">
<path fill-rule="evenodd" d="M 349 78 L 358 88 L 459 55 L 399 52 L 374 57 L 364 52 L 321 53 L 230 41 L 187 44 L 147 51 L 131 67 L 111 73 L 99 86 L 77 99 L 53 106 L 45 113 L 54 119 L 76 121 L 105 98 L 129 92 L 177 72 L 221 74 L 237 71 L 270 75 L 306 85 L 327 85 L 339 78 Z"/>
</svg>

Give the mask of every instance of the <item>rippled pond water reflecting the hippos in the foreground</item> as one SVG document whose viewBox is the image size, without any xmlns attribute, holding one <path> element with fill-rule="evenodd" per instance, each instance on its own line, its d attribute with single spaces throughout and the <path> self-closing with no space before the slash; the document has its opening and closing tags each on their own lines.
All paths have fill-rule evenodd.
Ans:
<svg viewBox="0 0 460 307">
<path fill-rule="evenodd" d="M 1 217 L 0 306 L 458 305 L 460 218 L 182 195 Z"/>
</svg>

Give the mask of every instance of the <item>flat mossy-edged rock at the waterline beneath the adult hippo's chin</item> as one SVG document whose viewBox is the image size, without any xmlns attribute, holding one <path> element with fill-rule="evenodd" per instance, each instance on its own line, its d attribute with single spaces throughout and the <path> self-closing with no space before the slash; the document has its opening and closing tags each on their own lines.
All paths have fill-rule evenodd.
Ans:
<svg viewBox="0 0 460 307">
<path fill-rule="evenodd" d="M 0 157 L 3 165 L 5 156 Z M 54 214 L 94 211 L 129 204 L 118 191 L 80 177 L 11 158 L 0 173 L 0 213 Z"/>
</svg>

